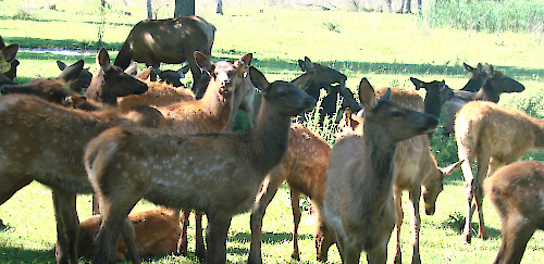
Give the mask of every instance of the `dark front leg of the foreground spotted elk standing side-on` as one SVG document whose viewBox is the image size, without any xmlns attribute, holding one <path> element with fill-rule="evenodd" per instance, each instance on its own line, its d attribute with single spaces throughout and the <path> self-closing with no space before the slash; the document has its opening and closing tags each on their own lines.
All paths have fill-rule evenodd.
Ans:
<svg viewBox="0 0 544 264">
<path fill-rule="evenodd" d="M 208 214 L 208 231 L 206 236 L 208 244 L 208 250 L 206 251 L 207 263 L 226 262 L 226 235 L 231 227 L 231 216 L 211 216 Z"/>
</svg>

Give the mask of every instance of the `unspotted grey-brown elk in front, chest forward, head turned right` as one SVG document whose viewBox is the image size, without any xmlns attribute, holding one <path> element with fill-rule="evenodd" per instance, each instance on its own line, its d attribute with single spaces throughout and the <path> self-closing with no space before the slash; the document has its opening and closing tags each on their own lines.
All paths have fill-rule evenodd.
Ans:
<svg viewBox="0 0 544 264">
<path fill-rule="evenodd" d="M 395 226 L 395 154 L 397 142 L 429 133 L 438 120 L 390 100 L 380 100 L 366 78 L 359 85 L 364 109 L 363 136 L 339 139 L 332 148 L 326 172 L 323 217 L 336 234 L 344 263 L 385 263 Z"/>
</svg>

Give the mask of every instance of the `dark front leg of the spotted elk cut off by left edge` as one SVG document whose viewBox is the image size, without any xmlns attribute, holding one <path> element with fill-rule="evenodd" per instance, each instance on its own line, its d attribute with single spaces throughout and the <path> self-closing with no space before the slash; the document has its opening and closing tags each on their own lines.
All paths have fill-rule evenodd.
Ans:
<svg viewBox="0 0 544 264">
<path fill-rule="evenodd" d="M 77 236 L 79 234 L 79 219 L 76 211 L 76 196 L 74 193 L 53 190 L 53 205 L 57 217 L 57 231 L 59 263 L 78 263 Z"/>
</svg>

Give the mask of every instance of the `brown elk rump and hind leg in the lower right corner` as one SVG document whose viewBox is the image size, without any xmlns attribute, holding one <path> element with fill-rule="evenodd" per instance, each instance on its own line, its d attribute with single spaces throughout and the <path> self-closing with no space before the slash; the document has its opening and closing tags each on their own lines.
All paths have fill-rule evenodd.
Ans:
<svg viewBox="0 0 544 264">
<path fill-rule="evenodd" d="M 484 181 L 500 216 L 502 243 L 495 264 L 518 264 L 536 229 L 544 230 L 544 162 L 504 166 Z"/>
</svg>

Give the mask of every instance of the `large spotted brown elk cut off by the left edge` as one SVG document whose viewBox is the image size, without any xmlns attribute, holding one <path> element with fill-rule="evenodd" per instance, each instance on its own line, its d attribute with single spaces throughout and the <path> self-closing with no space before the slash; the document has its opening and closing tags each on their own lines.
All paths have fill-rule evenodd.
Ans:
<svg viewBox="0 0 544 264">
<path fill-rule="evenodd" d="M 160 115 L 154 115 L 161 117 Z M 58 263 L 77 263 L 76 193 L 91 193 L 83 163 L 90 139 L 112 126 L 134 123 L 116 109 L 82 111 L 35 96 L 0 97 L 0 203 L 37 180 L 53 190 L 60 254 Z"/>
</svg>

